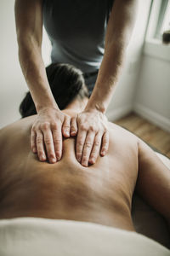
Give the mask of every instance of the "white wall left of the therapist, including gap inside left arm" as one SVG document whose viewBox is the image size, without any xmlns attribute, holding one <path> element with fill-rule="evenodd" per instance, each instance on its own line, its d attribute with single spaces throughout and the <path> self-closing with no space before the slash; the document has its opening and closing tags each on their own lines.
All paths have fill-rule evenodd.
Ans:
<svg viewBox="0 0 170 256">
<path fill-rule="evenodd" d="M 18 60 L 18 45 L 14 23 L 14 0 L 0 0 L 0 128 L 20 119 L 19 105 L 27 85 Z M 47 34 L 42 41 L 45 64 L 50 61 Z"/>
</svg>

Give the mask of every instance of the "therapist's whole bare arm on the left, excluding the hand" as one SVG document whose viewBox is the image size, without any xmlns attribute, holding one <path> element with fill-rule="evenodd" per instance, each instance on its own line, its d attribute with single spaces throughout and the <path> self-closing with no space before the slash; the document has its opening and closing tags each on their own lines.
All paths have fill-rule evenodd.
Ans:
<svg viewBox="0 0 170 256">
<path fill-rule="evenodd" d="M 42 61 L 42 0 L 15 1 L 19 58 L 37 111 L 56 108 Z"/>
</svg>

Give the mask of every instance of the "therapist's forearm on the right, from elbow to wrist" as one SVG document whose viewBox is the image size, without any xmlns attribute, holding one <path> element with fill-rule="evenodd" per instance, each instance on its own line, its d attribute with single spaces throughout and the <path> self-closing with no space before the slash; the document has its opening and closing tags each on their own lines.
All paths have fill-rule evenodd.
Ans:
<svg viewBox="0 0 170 256">
<path fill-rule="evenodd" d="M 87 109 L 98 109 L 100 112 L 105 113 L 122 70 L 124 52 L 125 47 L 115 43 L 105 49 L 105 55 L 101 62 L 98 78 L 93 94 L 88 101 Z"/>
</svg>

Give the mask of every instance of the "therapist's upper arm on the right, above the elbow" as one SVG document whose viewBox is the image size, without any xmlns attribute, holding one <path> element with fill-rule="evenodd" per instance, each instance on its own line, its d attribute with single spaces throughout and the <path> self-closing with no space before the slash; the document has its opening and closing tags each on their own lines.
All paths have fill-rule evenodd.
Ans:
<svg viewBox="0 0 170 256">
<path fill-rule="evenodd" d="M 138 0 L 115 0 L 107 26 L 105 44 L 128 44 L 137 15 Z"/>
</svg>

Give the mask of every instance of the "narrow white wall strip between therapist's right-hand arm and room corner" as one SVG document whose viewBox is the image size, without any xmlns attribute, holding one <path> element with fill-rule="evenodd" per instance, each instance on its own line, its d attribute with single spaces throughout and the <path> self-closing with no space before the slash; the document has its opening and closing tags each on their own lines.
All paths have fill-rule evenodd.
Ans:
<svg viewBox="0 0 170 256">
<path fill-rule="evenodd" d="M 139 0 L 138 16 L 130 44 L 128 45 L 122 76 L 107 110 L 107 116 L 111 120 L 117 119 L 133 110 L 134 92 L 140 71 L 140 59 L 150 13 L 150 3 L 150 0 Z"/>
</svg>

